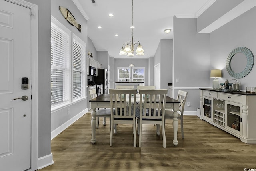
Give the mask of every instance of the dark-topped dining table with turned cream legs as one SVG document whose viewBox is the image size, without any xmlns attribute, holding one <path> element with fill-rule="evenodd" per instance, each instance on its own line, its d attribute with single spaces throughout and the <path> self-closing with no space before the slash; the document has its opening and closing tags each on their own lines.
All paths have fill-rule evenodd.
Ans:
<svg viewBox="0 0 256 171">
<path fill-rule="evenodd" d="M 136 94 L 136 96 L 140 96 L 139 94 Z M 136 103 L 137 102 L 137 97 L 136 97 Z M 139 99 L 139 98 L 138 98 Z M 92 120 L 91 120 L 91 126 L 92 126 L 92 139 L 91 143 L 95 144 L 96 143 L 96 108 L 110 108 L 110 94 L 101 94 L 100 96 L 97 96 L 96 98 L 93 98 L 89 100 L 91 103 L 91 108 L 92 108 Z M 172 143 L 174 146 L 178 145 L 178 140 L 177 140 L 177 134 L 178 134 L 178 113 L 177 111 L 179 110 L 180 107 L 180 101 L 176 100 L 174 98 L 171 98 L 169 96 L 166 96 L 166 104 L 165 108 L 166 109 L 172 109 L 174 111 L 173 113 L 173 121 L 172 121 L 172 126 L 173 126 L 173 140 Z M 137 108 L 136 108 L 137 110 Z M 136 117 L 140 117 L 140 112 L 136 111 Z"/>
</svg>

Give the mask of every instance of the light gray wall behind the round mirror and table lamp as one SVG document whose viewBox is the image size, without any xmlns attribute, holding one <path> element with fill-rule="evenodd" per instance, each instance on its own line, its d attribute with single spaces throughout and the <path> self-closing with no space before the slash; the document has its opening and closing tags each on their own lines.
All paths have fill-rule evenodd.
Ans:
<svg viewBox="0 0 256 171">
<path fill-rule="evenodd" d="M 220 82 L 225 79 L 232 78 L 226 71 L 226 59 L 228 54 L 236 47 L 247 47 L 256 55 L 256 7 L 245 12 L 241 16 L 235 18 L 221 28 L 213 31 L 210 34 L 210 69 L 222 69 L 222 78 Z M 254 59 L 255 61 L 255 59 Z M 238 65 L 239 67 L 239 65 Z M 245 90 L 246 86 L 256 86 L 256 67 L 246 76 L 238 81 L 241 82 L 240 89 Z M 210 79 L 210 86 L 212 79 Z"/>
</svg>

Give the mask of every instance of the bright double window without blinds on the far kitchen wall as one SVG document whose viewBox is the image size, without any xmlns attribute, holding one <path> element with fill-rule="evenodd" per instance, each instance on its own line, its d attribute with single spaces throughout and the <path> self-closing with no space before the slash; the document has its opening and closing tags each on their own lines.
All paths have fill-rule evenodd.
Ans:
<svg viewBox="0 0 256 171">
<path fill-rule="evenodd" d="M 144 82 L 145 67 L 118 67 L 118 81 L 141 81 Z"/>
</svg>

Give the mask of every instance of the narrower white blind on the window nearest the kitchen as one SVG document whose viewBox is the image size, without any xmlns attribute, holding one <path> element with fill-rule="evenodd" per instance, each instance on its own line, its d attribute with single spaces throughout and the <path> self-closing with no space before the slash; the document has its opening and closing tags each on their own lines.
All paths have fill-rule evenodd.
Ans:
<svg viewBox="0 0 256 171">
<path fill-rule="evenodd" d="M 73 99 L 85 97 L 85 43 L 73 34 Z"/>
</svg>

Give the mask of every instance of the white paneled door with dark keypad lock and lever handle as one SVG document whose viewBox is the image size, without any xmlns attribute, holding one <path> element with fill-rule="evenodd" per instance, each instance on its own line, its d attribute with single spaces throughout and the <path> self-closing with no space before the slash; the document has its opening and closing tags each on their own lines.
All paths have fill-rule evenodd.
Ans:
<svg viewBox="0 0 256 171">
<path fill-rule="evenodd" d="M 30 9 L 0 0 L 0 170 L 31 167 Z M 28 100 L 12 100 L 28 96 Z"/>
</svg>

